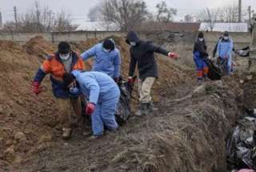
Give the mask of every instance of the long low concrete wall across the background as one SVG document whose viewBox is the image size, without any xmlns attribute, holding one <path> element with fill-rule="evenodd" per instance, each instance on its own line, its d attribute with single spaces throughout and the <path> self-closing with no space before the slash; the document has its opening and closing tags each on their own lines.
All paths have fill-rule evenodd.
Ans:
<svg viewBox="0 0 256 172">
<path fill-rule="evenodd" d="M 154 41 L 159 45 L 166 44 L 191 44 L 194 43 L 196 37 L 194 33 L 174 33 L 172 31 L 156 31 L 156 32 L 141 32 L 139 36 L 142 39 Z M 206 41 L 208 43 L 215 43 L 218 41 L 218 37 L 222 33 L 218 32 L 207 32 L 205 33 Z M 79 31 L 79 32 L 62 32 L 62 33 L 0 33 L 0 40 L 5 41 L 17 41 L 24 43 L 29 41 L 30 38 L 35 36 L 42 36 L 47 41 L 59 42 L 59 41 L 86 41 L 90 38 L 104 39 L 110 36 L 126 37 L 124 32 L 94 32 L 94 31 Z M 230 33 L 230 37 L 234 39 L 234 43 L 238 47 L 250 45 L 251 34 L 250 33 Z"/>
</svg>

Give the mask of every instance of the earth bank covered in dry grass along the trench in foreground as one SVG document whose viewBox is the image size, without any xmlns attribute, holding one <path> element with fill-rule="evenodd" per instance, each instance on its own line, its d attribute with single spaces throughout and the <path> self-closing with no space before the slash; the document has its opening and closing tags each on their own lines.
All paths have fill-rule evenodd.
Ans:
<svg viewBox="0 0 256 172">
<path fill-rule="evenodd" d="M 117 134 L 58 139 L 12 170 L 226 171 L 226 135 L 242 115 L 243 91 L 228 78 L 193 85 L 174 88 L 158 113 L 130 119 Z"/>
</svg>

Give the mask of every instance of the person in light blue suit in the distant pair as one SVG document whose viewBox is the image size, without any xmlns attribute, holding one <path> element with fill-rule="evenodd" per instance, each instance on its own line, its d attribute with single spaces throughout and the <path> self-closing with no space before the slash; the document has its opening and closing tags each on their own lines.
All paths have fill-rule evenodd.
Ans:
<svg viewBox="0 0 256 172">
<path fill-rule="evenodd" d="M 220 41 L 218 41 L 218 61 L 225 66 L 226 75 L 230 76 L 232 71 L 232 50 L 233 40 L 229 37 L 229 33 L 225 32 Z"/>
</svg>

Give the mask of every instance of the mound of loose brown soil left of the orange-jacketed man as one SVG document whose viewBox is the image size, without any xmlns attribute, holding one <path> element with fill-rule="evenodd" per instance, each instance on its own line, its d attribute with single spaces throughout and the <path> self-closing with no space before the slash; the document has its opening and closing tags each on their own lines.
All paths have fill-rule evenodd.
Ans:
<svg viewBox="0 0 256 172">
<path fill-rule="evenodd" d="M 39 67 L 38 57 L 30 56 L 13 42 L 0 41 L 0 49 L 1 166 L 4 162 L 19 162 L 31 147 L 50 140 L 58 113 L 51 106 L 54 100 L 50 91 L 40 97 L 30 92 L 31 80 Z"/>
</svg>

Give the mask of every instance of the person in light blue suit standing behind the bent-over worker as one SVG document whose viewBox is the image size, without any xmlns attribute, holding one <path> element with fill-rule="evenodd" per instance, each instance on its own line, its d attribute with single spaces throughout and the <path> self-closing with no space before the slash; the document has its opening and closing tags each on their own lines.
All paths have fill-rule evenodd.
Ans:
<svg viewBox="0 0 256 172">
<path fill-rule="evenodd" d="M 90 57 L 95 57 L 92 71 L 105 72 L 118 82 L 121 57 L 119 50 L 114 44 L 114 40 L 106 39 L 103 43 L 94 45 L 92 48 L 82 53 L 81 56 L 83 61 L 86 61 Z"/>
</svg>

